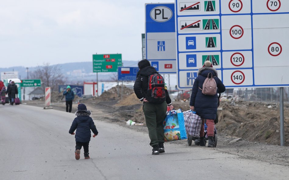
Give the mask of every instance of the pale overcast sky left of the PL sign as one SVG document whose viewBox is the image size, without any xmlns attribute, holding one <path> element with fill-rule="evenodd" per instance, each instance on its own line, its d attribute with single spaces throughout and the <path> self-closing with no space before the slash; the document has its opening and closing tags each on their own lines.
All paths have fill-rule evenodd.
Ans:
<svg viewBox="0 0 289 180">
<path fill-rule="evenodd" d="M 0 0 L 0 67 L 142 58 L 145 3 L 173 0 Z"/>
</svg>

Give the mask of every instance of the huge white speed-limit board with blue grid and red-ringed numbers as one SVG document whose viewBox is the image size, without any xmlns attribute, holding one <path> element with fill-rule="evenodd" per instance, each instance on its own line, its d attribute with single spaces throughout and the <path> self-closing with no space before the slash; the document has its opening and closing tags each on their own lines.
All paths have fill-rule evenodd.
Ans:
<svg viewBox="0 0 289 180">
<path fill-rule="evenodd" d="M 212 62 L 227 88 L 289 86 L 288 0 L 176 0 L 177 80 Z"/>
</svg>

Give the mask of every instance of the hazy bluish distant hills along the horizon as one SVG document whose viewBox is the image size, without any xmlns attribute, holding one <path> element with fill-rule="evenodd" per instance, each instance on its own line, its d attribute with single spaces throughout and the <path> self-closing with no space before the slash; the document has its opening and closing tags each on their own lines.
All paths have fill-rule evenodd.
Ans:
<svg viewBox="0 0 289 180">
<path fill-rule="evenodd" d="M 137 61 L 122 61 L 124 67 L 137 67 Z M 83 81 L 96 81 L 96 73 L 92 72 L 92 61 L 79 62 L 79 63 L 64 63 L 59 64 L 62 69 L 62 73 L 67 79 L 67 83 L 81 83 Z M 53 66 L 53 65 L 52 65 Z M 30 73 L 36 70 L 37 67 L 29 67 L 29 79 Z M 27 79 L 27 70 L 23 66 L 14 66 L 9 68 L 1 68 L 0 72 L 18 71 L 19 79 Z M 31 73 L 32 75 L 32 73 Z M 98 81 L 111 80 L 116 76 L 116 73 L 98 73 Z"/>
</svg>

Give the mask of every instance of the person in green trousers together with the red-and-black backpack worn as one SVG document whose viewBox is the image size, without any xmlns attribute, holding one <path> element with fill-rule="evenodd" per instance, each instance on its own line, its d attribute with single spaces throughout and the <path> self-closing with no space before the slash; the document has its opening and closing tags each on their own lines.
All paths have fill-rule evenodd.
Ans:
<svg viewBox="0 0 289 180">
<path fill-rule="evenodd" d="M 152 155 L 164 153 L 163 121 L 166 117 L 167 106 L 172 110 L 173 105 L 165 87 L 163 77 L 151 66 L 147 59 L 138 63 L 140 69 L 134 83 L 134 93 L 143 102 L 145 122 L 148 135 L 153 147 Z"/>
</svg>

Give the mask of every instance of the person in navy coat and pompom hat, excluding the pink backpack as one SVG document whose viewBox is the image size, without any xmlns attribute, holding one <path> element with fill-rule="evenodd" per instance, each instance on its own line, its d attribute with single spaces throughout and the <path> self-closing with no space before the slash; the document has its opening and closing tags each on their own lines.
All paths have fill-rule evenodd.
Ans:
<svg viewBox="0 0 289 180">
<path fill-rule="evenodd" d="M 205 79 L 208 77 L 208 74 L 212 73 L 214 80 L 217 85 L 217 93 L 214 96 L 205 95 L 202 93 L 203 83 Z M 205 146 L 204 140 L 204 123 L 206 121 L 207 124 L 207 136 L 209 137 L 208 147 L 214 147 L 214 130 L 215 123 L 214 120 L 217 116 L 217 108 L 218 108 L 218 93 L 225 92 L 226 87 L 222 83 L 222 81 L 218 78 L 218 73 L 216 69 L 213 68 L 212 63 L 210 61 L 205 61 L 204 66 L 198 70 L 198 76 L 194 81 L 191 100 L 190 100 L 190 108 L 196 111 L 196 113 L 202 118 L 202 127 L 200 131 L 200 138 L 196 140 L 197 145 Z"/>
</svg>

